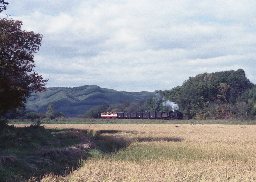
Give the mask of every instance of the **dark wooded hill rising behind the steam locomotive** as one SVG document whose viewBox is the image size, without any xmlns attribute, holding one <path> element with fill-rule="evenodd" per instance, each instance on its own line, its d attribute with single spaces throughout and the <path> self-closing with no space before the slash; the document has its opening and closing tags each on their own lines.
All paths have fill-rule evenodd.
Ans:
<svg viewBox="0 0 256 182">
<path fill-rule="evenodd" d="M 150 111 L 166 111 L 166 100 L 178 104 L 184 118 L 255 119 L 256 86 L 242 69 L 198 74 L 182 86 L 158 91 L 149 99 Z"/>
</svg>

